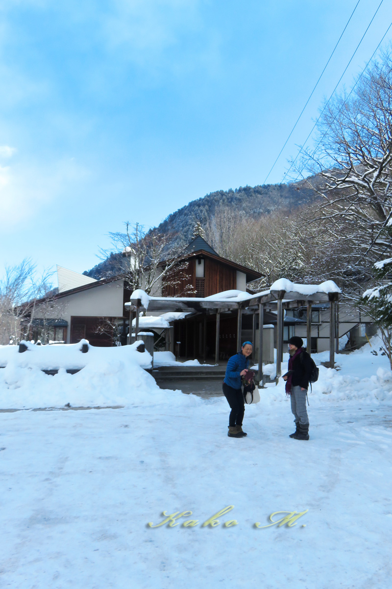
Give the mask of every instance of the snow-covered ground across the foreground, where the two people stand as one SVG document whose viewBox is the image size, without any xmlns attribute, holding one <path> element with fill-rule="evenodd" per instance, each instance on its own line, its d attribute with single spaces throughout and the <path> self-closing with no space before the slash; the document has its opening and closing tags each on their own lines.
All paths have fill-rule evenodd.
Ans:
<svg viewBox="0 0 392 589">
<path fill-rule="evenodd" d="M 114 373 L 115 360 L 91 356 L 81 372 L 66 375 L 68 390 L 64 374 L 42 373 L 53 395 L 55 387 L 63 391 L 58 405 L 70 395 L 72 405 L 98 405 L 106 390 L 108 405 L 125 406 L 0 413 L 2 586 L 388 587 L 392 382 L 371 343 L 337 356 L 339 371 L 320 369 L 309 395 L 309 442 L 289 438 L 293 417 L 283 383 L 260 391 L 262 401 L 246 407 L 248 436 L 233 439 L 225 398 L 161 391 L 125 356 Z M 86 392 L 93 365 L 99 374 Z M 27 400 L 45 406 L 44 381 L 25 370 L 34 385 Z M 140 380 L 130 380 L 132 370 Z M 8 406 L 16 407 L 28 376 L 14 365 L 20 386 L 7 388 L 2 372 L 1 400 L 9 395 Z M 203 527 L 232 505 L 219 525 Z M 165 519 L 163 511 L 188 513 L 179 525 L 148 527 Z M 296 525 L 254 526 L 269 525 L 280 511 L 306 513 Z M 190 519 L 199 523 L 185 527 Z M 237 524 L 225 527 L 230 520 Z"/>
</svg>

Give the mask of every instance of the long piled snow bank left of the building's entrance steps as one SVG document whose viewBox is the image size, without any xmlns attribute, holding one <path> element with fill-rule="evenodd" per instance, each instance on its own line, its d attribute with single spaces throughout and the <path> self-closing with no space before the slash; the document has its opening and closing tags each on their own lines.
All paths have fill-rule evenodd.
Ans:
<svg viewBox="0 0 392 589">
<path fill-rule="evenodd" d="M 82 340 L 73 345 L 35 346 L 19 353 L 18 346 L 0 346 L 0 408 L 154 405 L 181 403 L 179 391 L 165 391 L 144 368 L 151 366 L 148 352 L 130 346 L 95 348 L 82 353 Z M 79 368 L 69 374 L 66 369 Z M 42 369 L 55 369 L 54 376 Z"/>
</svg>

